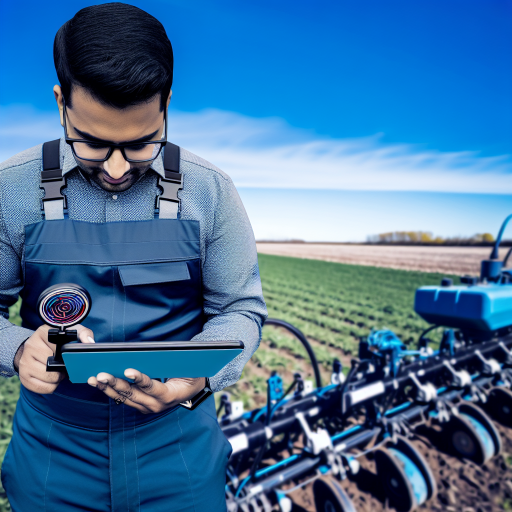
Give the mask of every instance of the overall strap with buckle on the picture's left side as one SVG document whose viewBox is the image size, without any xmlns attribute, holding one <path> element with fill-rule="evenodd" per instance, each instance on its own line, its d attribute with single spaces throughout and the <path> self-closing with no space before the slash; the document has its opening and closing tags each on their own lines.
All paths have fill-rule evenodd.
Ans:
<svg viewBox="0 0 512 512">
<path fill-rule="evenodd" d="M 45 220 L 59 220 L 67 213 L 66 197 L 61 190 L 66 186 L 66 178 L 60 168 L 60 139 L 43 144 L 43 170 L 40 188 L 44 190 L 41 210 Z M 66 210 L 66 212 L 65 212 Z"/>
</svg>

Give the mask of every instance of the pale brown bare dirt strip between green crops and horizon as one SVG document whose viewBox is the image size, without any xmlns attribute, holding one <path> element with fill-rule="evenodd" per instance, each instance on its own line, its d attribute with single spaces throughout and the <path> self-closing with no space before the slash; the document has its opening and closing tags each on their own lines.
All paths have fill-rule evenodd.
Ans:
<svg viewBox="0 0 512 512">
<path fill-rule="evenodd" d="M 432 247 L 392 245 L 337 245 L 314 243 L 257 243 L 258 252 L 372 267 L 419 270 L 456 275 L 478 275 L 480 261 L 490 247 Z M 508 248 L 500 250 L 504 258 Z"/>
</svg>

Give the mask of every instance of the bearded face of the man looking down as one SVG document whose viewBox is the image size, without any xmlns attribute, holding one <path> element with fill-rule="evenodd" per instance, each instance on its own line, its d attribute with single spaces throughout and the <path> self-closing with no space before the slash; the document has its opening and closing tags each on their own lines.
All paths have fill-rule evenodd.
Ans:
<svg viewBox="0 0 512 512">
<path fill-rule="evenodd" d="M 66 107 L 66 115 L 67 136 L 91 142 L 101 140 L 121 143 L 142 138 L 159 140 L 164 128 L 159 95 L 148 103 L 118 110 L 103 105 L 84 88 L 73 87 L 72 108 Z M 79 158 L 76 161 L 89 179 L 104 190 L 114 193 L 128 190 L 152 164 L 152 161 L 127 162 L 119 149 L 115 149 L 105 162 L 90 162 Z"/>
</svg>

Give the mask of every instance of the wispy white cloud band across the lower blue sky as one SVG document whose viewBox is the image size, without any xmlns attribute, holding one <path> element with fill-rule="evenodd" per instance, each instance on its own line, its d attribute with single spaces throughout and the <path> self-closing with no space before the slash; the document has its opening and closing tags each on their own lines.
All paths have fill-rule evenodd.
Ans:
<svg viewBox="0 0 512 512">
<path fill-rule="evenodd" d="M 0 109 L 0 161 L 59 137 L 57 113 Z M 279 118 L 171 111 L 169 140 L 211 161 L 238 187 L 509 193 L 512 156 L 384 144 L 379 135 L 328 139 Z"/>
</svg>

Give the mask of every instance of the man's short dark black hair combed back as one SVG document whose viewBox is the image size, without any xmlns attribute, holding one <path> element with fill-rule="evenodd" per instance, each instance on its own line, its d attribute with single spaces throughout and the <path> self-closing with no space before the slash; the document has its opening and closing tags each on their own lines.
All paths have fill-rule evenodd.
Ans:
<svg viewBox="0 0 512 512">
<path fill-rule="evenodd" d="M 78 11 L 60 27 L 53 59 L 66 105 L 73 85 L 98 101 L 125 108 L 161 94 L 164 109 L 172 85 L 172 46 L 151 14 L 120 2 Z"/>
</svg>

